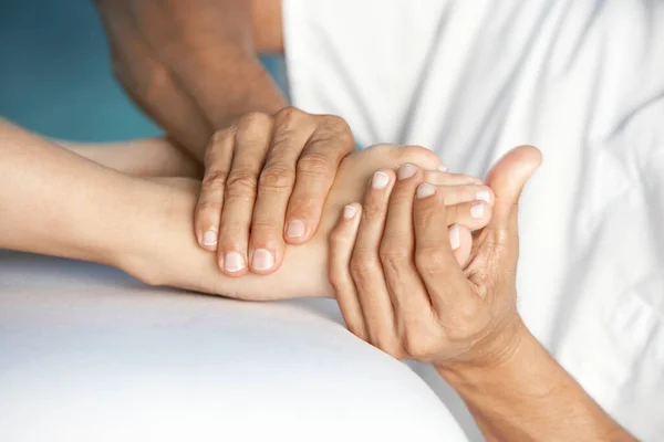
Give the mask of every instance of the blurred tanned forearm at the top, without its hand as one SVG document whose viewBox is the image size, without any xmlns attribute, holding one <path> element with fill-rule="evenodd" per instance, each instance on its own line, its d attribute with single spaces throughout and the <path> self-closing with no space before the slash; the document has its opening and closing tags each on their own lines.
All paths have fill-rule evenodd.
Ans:
<svg viewBox="0 0 664 442">
<path fill-rule="evenodd" d="M 283 51 L 278 1 L 95 0 L 113 72 L 179 148 L 203 162 L 216 129 L 287 101 L 258 53 Z"/>
</svg>

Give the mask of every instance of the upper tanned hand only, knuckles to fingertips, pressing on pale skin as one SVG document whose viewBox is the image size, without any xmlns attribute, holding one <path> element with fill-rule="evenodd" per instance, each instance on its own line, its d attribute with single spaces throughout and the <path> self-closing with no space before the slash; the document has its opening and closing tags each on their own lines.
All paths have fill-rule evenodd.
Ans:
<svg viewBox="0 0 664 442">
<path fill-rule="evenodd" d="M 230 276 L 269 274 L 286 243 L 315 233 L 341 160 L 355 148 L 333 115 L 251 113 L 211 138 L 196 206 L 198 243 Z"/>
</svg>

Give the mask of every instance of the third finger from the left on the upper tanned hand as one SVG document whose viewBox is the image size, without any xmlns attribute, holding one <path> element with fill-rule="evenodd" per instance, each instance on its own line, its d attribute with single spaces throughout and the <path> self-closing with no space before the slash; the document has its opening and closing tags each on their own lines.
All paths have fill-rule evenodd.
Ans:
<svg viewBox="0 0 664 442">
<path fill-rule="evenodd" d="M 284 219 L 289 199 L 295 183 L 295 165 L 302 148 L 313 133 L 314 126 L 305 114 L 286 108 L 277 113 L 271 146 L 266 165 L 260 173 L 258 194 L 251 221 L 249 255 L 256 250 L 269 250 L 274 246 L 274 265 L 267 274 L 281 265 L 284 253 Z M 303 225 L 291 225 L 287 232 L 302 233 Z"/>
</svg>

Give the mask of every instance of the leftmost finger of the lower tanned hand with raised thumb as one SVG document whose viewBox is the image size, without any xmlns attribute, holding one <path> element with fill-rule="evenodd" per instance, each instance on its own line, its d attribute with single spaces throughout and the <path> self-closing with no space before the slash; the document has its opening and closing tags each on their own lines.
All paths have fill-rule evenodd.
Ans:
<svg viewBox="0 0 664 442">
<path fill-rule="evenodd" d="M 357 203 L 343 208 L 336 227 L 330 233 L 330 283 L 349 330 L 361 339 L 369 339 L 357 290 L 351 276 L 351 256 L 357 238 L 362 207 Z"/>
</svg>

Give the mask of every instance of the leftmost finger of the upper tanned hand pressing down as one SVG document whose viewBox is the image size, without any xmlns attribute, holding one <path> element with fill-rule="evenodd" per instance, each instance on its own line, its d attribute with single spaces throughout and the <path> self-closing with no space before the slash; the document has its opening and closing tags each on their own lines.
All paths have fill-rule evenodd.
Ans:
<svg viewBox="0 0 664 442">
<path fill-rule="evenodd" d="M 218 130 L 206 149 L 206 170 L 194 213 L 194 225 L 198 244 L 209 251 L 217 250 L 219 240 L 219 219 L 232 161 L 234 138 L 234 127 Z"/>
</svg>

